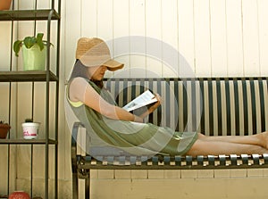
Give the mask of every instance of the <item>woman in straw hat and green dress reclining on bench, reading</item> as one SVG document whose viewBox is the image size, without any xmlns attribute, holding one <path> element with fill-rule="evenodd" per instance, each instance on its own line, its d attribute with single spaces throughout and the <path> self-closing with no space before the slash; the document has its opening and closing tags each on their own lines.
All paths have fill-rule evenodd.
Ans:
<svg viewBox="0 0 268 199">
<path fill-rule="evenodd" d="M 106 70 L 119 70 L 123 64 L 111 59 L 105 42 L 82 37 L 78 41 L 67 98 L 71 108 L 88 132 L 95 134 L 94 145 L 109 145 L 132 154 L 253 154 L 268 153 L 268 133 L 244 137 L 205 137 L 197 132 L 175 132 L 169 128 L 143 123 L 161 104 L 158 102 L 141 115 L 117 106 L 103 86 Z"/>
</svg>

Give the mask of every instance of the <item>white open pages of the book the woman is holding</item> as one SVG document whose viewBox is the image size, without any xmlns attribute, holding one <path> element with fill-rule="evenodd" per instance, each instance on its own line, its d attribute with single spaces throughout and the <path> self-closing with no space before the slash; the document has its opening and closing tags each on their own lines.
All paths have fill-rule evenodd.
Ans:
<svg viewBox="0 0 268 199">
<path fill-rule="evenodd" d="M 126 104 L 123 109 L 128 112 L 136 110 L 140 107 L 146 106 L 148 104 L 153 104 L 157 102 L 155 95 L 150 91 L 147 90 L 141 95 L 138 95 L 135 99 L 133 99 L 129 104 Z"/>
</svg>

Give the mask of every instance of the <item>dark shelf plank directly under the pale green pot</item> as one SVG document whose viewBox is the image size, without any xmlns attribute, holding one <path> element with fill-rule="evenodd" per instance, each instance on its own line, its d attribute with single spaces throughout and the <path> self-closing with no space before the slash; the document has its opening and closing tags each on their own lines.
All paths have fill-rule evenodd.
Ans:
<svg viewBox="0 0 268 199">
<path fill-rule="evenodd" d="M 58 77 L 49 71 L 49 81 L 58 81 Z M 0 71 L 1 82 L 46 81 L 46 70 Z"/>
</svg>

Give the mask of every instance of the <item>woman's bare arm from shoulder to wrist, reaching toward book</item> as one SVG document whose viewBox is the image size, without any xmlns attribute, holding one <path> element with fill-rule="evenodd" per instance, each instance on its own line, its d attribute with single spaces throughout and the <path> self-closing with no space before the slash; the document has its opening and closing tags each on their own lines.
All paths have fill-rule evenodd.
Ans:
<svg viewBox="0 0 268 199">
<path fill-rule="evenodd" d="M 109 104 L 96 90 L 91 87 L 86 79 L 76 78 L 71 81 L 69 97 L 72 102 L 82 102 L 88 107 L 113 120 L 130 120 L 143 122 L 142 118 L 125 111 L 119 106 Z"/>
</svg>

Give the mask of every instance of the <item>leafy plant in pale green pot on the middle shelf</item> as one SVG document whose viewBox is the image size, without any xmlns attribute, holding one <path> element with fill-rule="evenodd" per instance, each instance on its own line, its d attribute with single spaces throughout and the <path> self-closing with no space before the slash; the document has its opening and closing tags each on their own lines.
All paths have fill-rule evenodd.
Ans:
<svg viewBox="0 0 268 199">
<path fill-rule="evenodd" d="M 45 70 L 47 42 L 43 37 L 44 33 L 38 33 L 37 37 L 24 37 L 23 40 L 16 40 L 13 43 L 16 56 L 19 56 L 22 48 L 24 70 Z"/>
</svg>

